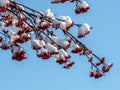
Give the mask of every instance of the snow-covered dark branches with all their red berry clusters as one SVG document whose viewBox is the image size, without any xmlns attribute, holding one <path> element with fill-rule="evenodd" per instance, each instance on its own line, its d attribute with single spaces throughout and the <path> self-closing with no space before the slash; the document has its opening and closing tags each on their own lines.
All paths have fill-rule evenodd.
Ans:
<svg viewBox="0 0 120 90">
<path fill-rule="evenodd" d="M 76 14 L 89 9 L 89 5 L 80 0 L 53 0 L 52 3 L 66 1 L 76 3 Z M 76 24 L 70 16 L 55 17 L 50 9 L 38 12 L 13 0 L 0 0 L 0 27 L 0 49 L 10 50 L 13 60 L 27 59 L 22 44 L 31 42 L 38 58 L 49 60 L 54 57 L 55 62 L 65 69 L 75 64 L 70 60 L 72 54 L 85 56 L 91 67 L 90 77 L 104 76 L 113 65 L 107 64 L 105 58 L 98 57 L 79 40 L 91 32 L 92 27 L 88 23 Z M 78 28 L 77 37 L 69 32 L 72 27 Z M 63 32 L 64 36 L 60 37 L 56 31 Z"/>
</svg>

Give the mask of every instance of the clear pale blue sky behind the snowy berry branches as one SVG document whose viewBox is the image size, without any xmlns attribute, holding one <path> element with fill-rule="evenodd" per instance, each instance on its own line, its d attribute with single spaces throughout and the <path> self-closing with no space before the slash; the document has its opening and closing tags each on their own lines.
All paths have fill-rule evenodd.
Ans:
<svg viewBox="0 0 120 90">
<path fill-rule="evenodd" d="M 76 64 L 65 70 L 53 58 L 43 61 L 26 44 L 27 60 L 11 60 L 9 51 L 0 50 L 0 90 L 119 90 L 120 89 L 120 0 L 87 0 L 90 11 L 74 14 L 74 5 L 51 5 L 51 0 L 17 0 L 38 11 L 48 8 L 59 15 L 69 15 L 76 23 L 89 23 L 92 32 L 82 42 L 94 53 L 105 56 L 114 67 L 100 79 L 89 77 L 90 65 L 85 57 L 73 55 Z M 77 32 L 73 28 L 71 33 Z"/>
</svg>

